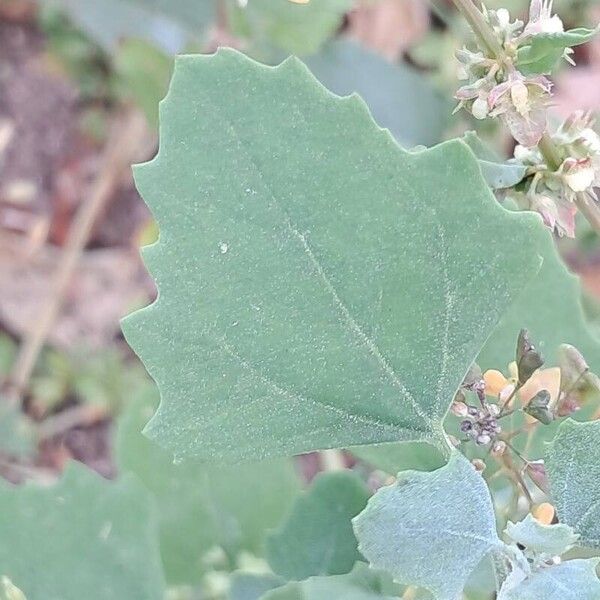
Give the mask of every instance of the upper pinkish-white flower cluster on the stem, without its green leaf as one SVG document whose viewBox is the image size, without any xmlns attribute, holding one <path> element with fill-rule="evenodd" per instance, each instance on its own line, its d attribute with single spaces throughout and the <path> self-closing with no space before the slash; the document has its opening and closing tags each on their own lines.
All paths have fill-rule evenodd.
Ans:
<svg viewBox="0 0 600 600">
<path fill-rule="evenodd" d="M 552 3 L 533 0 L 529 22 L 511 22 L 506 9 L 486 10 L 483 16 L 502 52 L 489 56 L 485 49 L 463 48 L 457 53 L 459 78 L 466 83 L 457 92 L 458 108 L 476 119 L 500 117 L 513 137 L 526 147 L 535 146 L 547 127 L 547 106 L 552 82 L 544 73 L 519 70 L 519 49 L 536 36 L 563 32 L 560 18 L 552 16 Z M 565 57 L 570 49 L 565 49 Z"/>
</svg>

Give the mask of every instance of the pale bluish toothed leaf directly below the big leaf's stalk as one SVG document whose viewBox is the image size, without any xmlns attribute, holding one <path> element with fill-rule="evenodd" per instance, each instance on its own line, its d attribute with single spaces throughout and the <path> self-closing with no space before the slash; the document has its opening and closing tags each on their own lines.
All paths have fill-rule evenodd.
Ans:
<svg viewBox="0 0 600 600">
<path fill-rule="evenodd" d="M 406 471 L 354 519 L 359 550 L 406 585 L 455 600 L 485 557 L 502 547 L 487 486 L 457 452 L 432 473 Z"/>
</svg>

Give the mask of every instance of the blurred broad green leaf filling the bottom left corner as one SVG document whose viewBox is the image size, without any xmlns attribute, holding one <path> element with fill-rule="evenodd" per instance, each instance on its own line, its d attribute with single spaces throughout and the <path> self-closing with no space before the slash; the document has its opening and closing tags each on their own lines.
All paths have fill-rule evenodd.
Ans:
<svg viewBox="0 0 600 600">
<path fill-rule="evenodd" d="M 27 600 L 162 600 L 154 506 L 76 463 L 51 487 L 0 485 L 0 576 Z"/>
</svg>

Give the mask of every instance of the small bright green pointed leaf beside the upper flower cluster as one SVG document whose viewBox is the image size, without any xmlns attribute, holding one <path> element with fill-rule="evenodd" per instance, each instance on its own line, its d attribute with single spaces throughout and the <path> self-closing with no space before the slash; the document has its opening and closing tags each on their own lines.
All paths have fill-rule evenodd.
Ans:
<svg viewBox="0 0 600 600">
<path fill-rule="evenodd" d="M 571 29 L 563 33 L 541 33 L 519 48 L 517 67 L 525 75 L 550 73 L 567 48 L 589 42 L 598 29 Z"/>
</svg>

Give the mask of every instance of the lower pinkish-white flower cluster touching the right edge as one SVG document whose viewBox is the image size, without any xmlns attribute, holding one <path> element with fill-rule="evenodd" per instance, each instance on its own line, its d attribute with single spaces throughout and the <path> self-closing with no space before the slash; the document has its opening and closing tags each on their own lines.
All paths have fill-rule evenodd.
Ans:
<svg viewBox="0 0 600 600">
<path fill-rule="evenodd" d="M 509 196 L 524 210 L 538 212 L 546 226 L 558 235 L 575 235 L 576 202 L 597 202 L 600 187 L 600 135 L 591 115 L 574 113 L 551 136 L 561 161 L 551 169 L 538 148 L 519 145 L 514 162 L 530 174 Z"/>
</svg>

